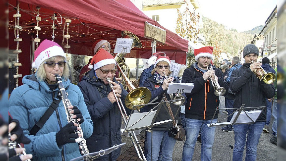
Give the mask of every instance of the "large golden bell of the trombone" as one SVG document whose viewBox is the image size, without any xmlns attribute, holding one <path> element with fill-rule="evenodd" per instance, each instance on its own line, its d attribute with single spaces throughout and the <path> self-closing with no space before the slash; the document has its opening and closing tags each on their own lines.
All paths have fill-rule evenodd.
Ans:
<svg viewBox="0 0 286 161">
<path fill-rule="evenodd" d="M 146 87 L 138 87 L 130 91 L 125 98 L 125 105 L 130 110 L 138 110 L 144 106 L 136 106 L 140 104 L 147 104 L 151 99 L 151 92 Z M 136 106 L 134 108 L 134 106 Z"/>
</svg>

